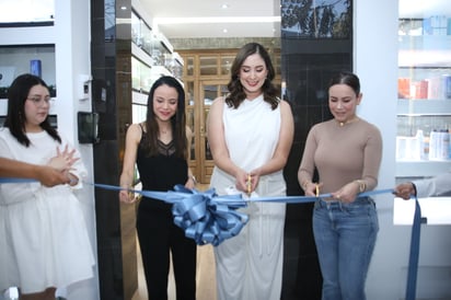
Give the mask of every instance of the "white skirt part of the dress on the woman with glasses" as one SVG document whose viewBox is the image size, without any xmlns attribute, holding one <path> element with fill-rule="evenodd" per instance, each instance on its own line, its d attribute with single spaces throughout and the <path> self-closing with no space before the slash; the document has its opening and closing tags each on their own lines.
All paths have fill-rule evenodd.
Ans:
<svg viewBox="0 0 451 300">
<path fill-rule="evenodd" d="M 39 292 L 93 276 L 81 203 L 68 186 L 43 187 L 26 200 L 1 203 L 0 290 L 16 286 L 23 293 Z"/>
</svg>

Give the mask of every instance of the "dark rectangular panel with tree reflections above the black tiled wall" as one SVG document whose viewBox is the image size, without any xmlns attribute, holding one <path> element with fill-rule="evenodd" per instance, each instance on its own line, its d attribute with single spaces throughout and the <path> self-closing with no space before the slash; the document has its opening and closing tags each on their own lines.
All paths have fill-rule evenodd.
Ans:
<svg viewBox="0 0 451 300">
<path fill-rule="evenodd" d="M 352 0 L 281 0 L 285 38 L 350 38 Z"/>
</svg>

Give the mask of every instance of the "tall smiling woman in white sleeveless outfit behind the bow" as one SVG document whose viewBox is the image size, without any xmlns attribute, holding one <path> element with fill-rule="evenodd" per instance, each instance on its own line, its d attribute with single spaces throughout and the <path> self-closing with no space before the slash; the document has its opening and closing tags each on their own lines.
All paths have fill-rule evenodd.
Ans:
<svg viewBox="0 0 451 300">
<path fill-rule="evenodd" d="M 289 104 L 277 97 L 266 49 L 243 46 L 232 65 L 230 94 L 216 99 L 208 116 L 215 161 L 210 187 L 254 196 L 285 196 L 282 169 L 293 139 Z M 280 299 L 285 204 L 254 201 L 238 236 L 215 249 L 219 300 Z"/>
</svg>

